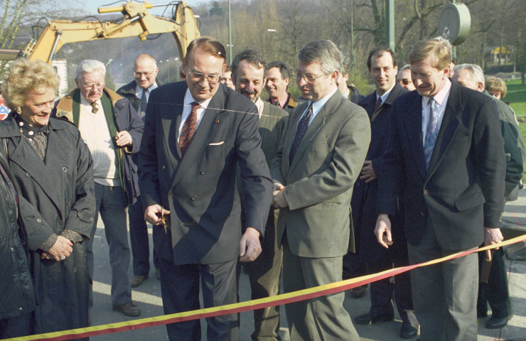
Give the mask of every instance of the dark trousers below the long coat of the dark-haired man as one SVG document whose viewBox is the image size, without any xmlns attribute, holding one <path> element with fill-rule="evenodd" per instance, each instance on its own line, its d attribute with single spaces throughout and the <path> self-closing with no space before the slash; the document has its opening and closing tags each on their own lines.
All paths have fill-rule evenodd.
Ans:
<svg viewBox="0 0 526 341">
<path fill-rule="evenodd" d="M 380 271 L 392 269 L 392 267 L 407 266 L 409 260 L 392 261 L 385 259 L 383 262 L 367 263 L 367 272 L 376 274 Z M 413 311 L 413 297 L 411 293 L 411 274 L 404 272 L 385 278 L 381 281 L 372 282 L 370 285 L 371 315 L 394 315 L 394 303 L 397 305 L 398 313 L 402 321 L 417 324 L 417 318 Z"/>
</svg>

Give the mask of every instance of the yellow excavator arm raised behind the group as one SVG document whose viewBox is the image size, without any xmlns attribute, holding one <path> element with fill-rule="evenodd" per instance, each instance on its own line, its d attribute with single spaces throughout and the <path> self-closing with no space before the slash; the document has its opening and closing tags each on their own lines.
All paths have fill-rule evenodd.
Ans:
<svg viewBox="0 0 526 341">
<path fill-rule="evenodd" d="M 149 13 L 148 9 L 160 6 L 173 6 L 171 19 Z M 146 40 L 146 36 L 151 34 L 172 33 L 179 55 L 183 58 L 190 41 L 199 36 L 197 20 L 185 1 L 166 4 L 130 1 L 122 6 L 99 7 L 99 13 L 112 12 L 121 12 L 124 15 L 122 21 L 48 21 L 38 40 L 31 39 L 26 48 L 21 50 L 21 56 L 51 64 L 54 55 L 64 44 L 135 36 Z"/>
</svg>

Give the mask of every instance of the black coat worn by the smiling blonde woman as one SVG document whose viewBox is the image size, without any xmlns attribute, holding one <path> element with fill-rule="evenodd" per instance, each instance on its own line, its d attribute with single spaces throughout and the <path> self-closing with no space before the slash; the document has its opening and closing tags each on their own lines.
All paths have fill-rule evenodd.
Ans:
<svg viewBox="0 0 526 341">
<path fill-rule="evenodd" d="M 48 125 L 43 163 L 21 137 L 12 114 L 0 122 L 0 137 L 8 138 L 9 166 L 20 186 L 20 197 L 35 209 L 21 216 L 38 301 L 36 333 L 87 326 L 89 276 L 84 243 L 74 244 L 73 253 L 64 261 L 41 260 L 38 247 L 64 229 L 88 238 L 95 215 L 90 151 L 73 124 L 52 118 Z"/>
</svg>

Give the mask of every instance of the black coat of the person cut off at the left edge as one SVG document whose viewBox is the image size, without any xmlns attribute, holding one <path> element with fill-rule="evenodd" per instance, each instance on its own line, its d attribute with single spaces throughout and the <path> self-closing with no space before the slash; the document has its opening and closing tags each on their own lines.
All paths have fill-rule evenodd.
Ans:
<svg viewBox="0 0 526 341">
<path fill-rule="evenodd" d="M 18 186 L 13 181 L 14 176 L 9 170 L 4 154 L 4 145 L 0 142 L 1 166 L 18 192 Z M 28 208 L 31 209 L 25 200 L 21 199 L 19 202 L 21 209 L 18 211 L 18 216 Z M 20 224 L 20 219 L 17 220 L 14 196 L 11 195 L 6 180 L 1 174 L 0 269 L 0 320 L 35 310 L 36 297 L 29 273 L 26 232 Z"/>
</svg>

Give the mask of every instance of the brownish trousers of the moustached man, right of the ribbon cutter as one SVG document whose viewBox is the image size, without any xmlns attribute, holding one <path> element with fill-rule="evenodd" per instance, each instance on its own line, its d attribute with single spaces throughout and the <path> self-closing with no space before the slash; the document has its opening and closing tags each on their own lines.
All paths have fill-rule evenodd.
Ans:
<svg viewBox="0 0 526 341">
<path fill-rule="evenodd" d="M 276 225 L 279 210 L 270 210 L 262 241 L 262 254 L 255 261 L 245 263 L 252 300 L 276 296 L 279 293 L 279 275 L 283 250 L 277 246 Z M 254 310 L 252 340 L 281 340 L 279 337 L 279 305 Z"/>
</svg>

